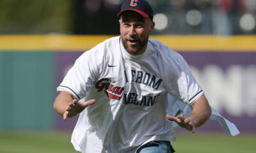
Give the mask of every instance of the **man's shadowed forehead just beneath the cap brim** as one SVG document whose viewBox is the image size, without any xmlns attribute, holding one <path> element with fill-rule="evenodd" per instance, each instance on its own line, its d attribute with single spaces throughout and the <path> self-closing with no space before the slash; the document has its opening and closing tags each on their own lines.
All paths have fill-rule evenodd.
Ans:
<svg viewBox="0 0 256 153">
<path fill-rule="evenodd" d="M 142 17 L 136 11 L 124 11 L 121 14 L 122 22 L 145 22 L 147 18 Z"/>
</svg>

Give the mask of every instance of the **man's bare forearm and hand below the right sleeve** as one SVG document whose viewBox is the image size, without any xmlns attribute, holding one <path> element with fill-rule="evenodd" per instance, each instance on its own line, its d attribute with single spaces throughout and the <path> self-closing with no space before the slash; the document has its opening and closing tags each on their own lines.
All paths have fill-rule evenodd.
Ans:
<svg viewBox="0 0 256 153">
<path fill-rule="evenodd" d="M 193 105 L 191 114 L 188 117 L 180 116 L 172 117 L 166 115 L 166 118 L 177 122 L 182 128 L 186 128 L 192 133 L 195 133 L 195 129 L 202 126 L 211 116 L 211 106 L 204 95 L 200 96 Z"/>
</svg>

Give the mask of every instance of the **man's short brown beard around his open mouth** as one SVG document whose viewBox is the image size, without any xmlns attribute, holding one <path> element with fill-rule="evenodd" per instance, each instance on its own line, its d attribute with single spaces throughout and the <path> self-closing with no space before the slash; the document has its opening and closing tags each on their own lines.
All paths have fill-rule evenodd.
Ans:
<svg viewBox="0 0 256 153">
<path fill-rule="evenodd" d="M 132 40 L 136 40 L 135 45 L 129 44 L 129 39 L 127 40 L 123 36 L 121 36 L 121 38 L 124 48 L 127 50 L 127 52 L 129 52 L 129 54 L 140 55 L 145 52 L 144 48 L 147 46 L 148 38 L 132 38 Z"/>
</svg>

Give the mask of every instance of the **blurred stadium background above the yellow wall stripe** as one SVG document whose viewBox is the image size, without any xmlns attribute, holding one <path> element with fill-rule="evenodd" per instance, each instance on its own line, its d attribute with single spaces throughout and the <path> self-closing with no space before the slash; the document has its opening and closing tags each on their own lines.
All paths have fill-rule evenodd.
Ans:
<svg viewBox="0 0 256 153">
<path fill-rule="evenodd" d="M 123 0 L 1 0 L 0 34 L 118 34 Z M 255 34 L 254 0 L 148 0 L 154 34 Z"/>
</svg>

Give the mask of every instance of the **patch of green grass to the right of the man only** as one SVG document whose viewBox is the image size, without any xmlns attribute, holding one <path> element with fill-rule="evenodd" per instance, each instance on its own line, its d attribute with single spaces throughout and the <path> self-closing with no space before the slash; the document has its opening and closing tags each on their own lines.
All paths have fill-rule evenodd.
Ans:
<svg viewBox="0 0 256 153">
<path fill-rule="evenodd" d="M 256 133 L 178 133 L 172 145 L 177 153 L 255 153 Z"/>
</svg>

